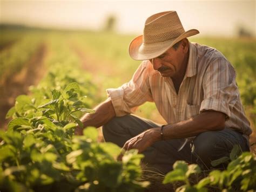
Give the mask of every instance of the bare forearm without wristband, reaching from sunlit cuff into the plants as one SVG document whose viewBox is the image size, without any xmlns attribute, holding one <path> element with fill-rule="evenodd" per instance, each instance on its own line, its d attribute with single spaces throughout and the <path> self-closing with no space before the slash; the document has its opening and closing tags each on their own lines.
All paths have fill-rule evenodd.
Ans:
<svg viewBox="0 0 256 192">
<path fill-rule="evenodd" d="M 95 108 L 95 113 L 86 113 L 80 120 L 83 122 L 84 127 L 100 127 L 114 116 L 116 116 L 116 113 L 114 112 L 111 99 L 108 98 Z"/>
</svg>

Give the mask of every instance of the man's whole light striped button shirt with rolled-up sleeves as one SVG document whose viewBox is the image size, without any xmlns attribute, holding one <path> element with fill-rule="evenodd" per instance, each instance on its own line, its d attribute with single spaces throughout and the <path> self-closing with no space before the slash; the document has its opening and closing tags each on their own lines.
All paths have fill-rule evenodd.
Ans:
<svg viewBox="0 0 256 192">
<path fill-rule="evenodd" d="M 116 115 L 134 113 L 146 101 L 155 102 L 168 124 L 213 110 L 226 114 L 226 127 L 250 135 L 252 129 L 241 104 L 233 66 L 212 47 L 197 43 L 190 43 L 189 47 L 178 94 L 172 79 L 161 77 L 150 61 L 144 60 L 129 83 L 106 90 Z"/>
</svg>

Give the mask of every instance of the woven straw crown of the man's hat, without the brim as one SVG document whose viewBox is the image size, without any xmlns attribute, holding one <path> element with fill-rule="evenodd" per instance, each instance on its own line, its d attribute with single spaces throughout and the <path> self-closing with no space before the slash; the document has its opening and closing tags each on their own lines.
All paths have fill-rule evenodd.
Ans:
<svg viewBox="0 0 256 192">
<path fill-rule="evenodd" d="M 146 19 L 143 43 L 159 43 L 179 37 L 185 32 L 176 11 L 165 11 Z"/>
</svg>

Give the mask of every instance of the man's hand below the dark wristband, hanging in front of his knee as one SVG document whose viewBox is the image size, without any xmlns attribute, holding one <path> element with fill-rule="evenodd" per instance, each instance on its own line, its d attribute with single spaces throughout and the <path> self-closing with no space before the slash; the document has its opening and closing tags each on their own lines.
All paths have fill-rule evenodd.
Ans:
<svg viewBox="0 0 256 192">
<path fill-rule="evenodd" d="M 151 128 L 147 131 L 140 133 L 134 138 L 125 142 L 122 153 L 118 156 L 118 160 L 122 160 L 123 153 L 126 150 L 138 149 L 138 153 L 142 153 L 147 147 L 153 145 L 154 142 L 160 139 L 160 128 Z"/>
</svg>

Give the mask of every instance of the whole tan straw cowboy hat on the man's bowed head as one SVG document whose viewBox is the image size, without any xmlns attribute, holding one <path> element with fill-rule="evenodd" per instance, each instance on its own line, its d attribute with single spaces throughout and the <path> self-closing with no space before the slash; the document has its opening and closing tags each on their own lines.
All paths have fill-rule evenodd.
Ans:
<svg viewBox="0 0 256 192">
<path fill-rule="evenodd" d="M 176 11 L 160 12 L 147 18 L 143 35 L 132 40 L 129 54 L 134 60 L 153 59 L 181 39 L 198 33 L 196 29 L 185 31 Z"/>
</svg>

